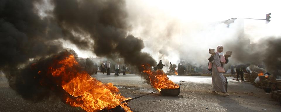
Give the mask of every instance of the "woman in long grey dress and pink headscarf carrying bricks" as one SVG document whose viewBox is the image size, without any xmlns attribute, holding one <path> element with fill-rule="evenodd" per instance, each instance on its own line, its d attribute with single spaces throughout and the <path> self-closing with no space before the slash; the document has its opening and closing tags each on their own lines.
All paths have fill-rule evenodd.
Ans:
<svg viewBox="0 0 281 112">
<path fill-rule="evenodd" d="M 223 75 L 222 71 L 219 72 L 217 69 L 219 67 L 223 68 L 223 65 L 228 63 L 228 57 L 225 57 L 222 51 L 223 46 L 217 46 L 215 55 L 212 54 L 208 59 L 208 69 L 212 69 L 212 94 L 218 95 L 217 92 L 222 92 L 223 95 L 228 96 L 229 94 L 227 93 L 227 79 Z"/>
</svg>

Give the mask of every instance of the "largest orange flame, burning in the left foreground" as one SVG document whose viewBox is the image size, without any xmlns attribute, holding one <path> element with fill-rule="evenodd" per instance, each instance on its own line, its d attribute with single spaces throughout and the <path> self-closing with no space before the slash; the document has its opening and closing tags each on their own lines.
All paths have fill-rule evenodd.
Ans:
<svg viewBox="0 0 281 112">
<path fill-rule="evenodd" d="M 53 68 L 57 66 L 60 67 Z M 103 84 L 101 81 L 92 78 L 86 71 L 79 72 L 77 66 L 79 64 L 74 56 L 69 55 L 66 59 L 54 63 L 49 68 L 49 73 L 52 76 L 62 77 L 62 88 L 72 96 L 66 98 L 67 104 L 81 107 L 88 112 L 100 111 L 104 108 L 111 109 L 120 105 L 126 112 L 131 112 L 127 103 L 121 104 L 121 101 L 126 100 L 126 98 L 117 94 L 119 92 L 117 87 L 113 86 L 112 83 Z"/>
</svg>

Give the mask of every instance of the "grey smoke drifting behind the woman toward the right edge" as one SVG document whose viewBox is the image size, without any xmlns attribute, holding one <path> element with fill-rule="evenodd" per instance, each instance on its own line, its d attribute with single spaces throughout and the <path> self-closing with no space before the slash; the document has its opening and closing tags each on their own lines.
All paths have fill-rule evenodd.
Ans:
<svg viewBox="0 0 281 112">
<path fill-rule="evenodd" d="M 274 76 L 281 76 L 281 37 L 266 37 L 255 44 L 250 40 L 226 43 L 225 48 L 232 50 L 229 60 L 232 64 L 246 64 L 259 66 L 263 64 L 265 69 Z"/>
</svg>

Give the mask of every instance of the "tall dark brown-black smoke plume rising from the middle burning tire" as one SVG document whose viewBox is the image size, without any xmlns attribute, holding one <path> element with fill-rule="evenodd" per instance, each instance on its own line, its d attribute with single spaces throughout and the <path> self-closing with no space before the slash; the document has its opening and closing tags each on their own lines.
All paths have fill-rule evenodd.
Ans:
<svg viewBox="0 0 281 112">
<path fill-rule="evenodd" d="M 85 43 L 80 48 L 89 49 L 91 46 L 97 56 L 114 58 L 118 54 L 124 57 L 126 63 L 136 66 L 156 64 L 149 54 L 141 52 L 144 48 L 142 40 L 127 36 L 131 26 L 126 20 L 125 1 L 54 0 L 52 3 L 55 6 L 53 15 L 64 34 L 72 31 L 86 33 L 94 40 L 93 46 Z"/>
</svg>

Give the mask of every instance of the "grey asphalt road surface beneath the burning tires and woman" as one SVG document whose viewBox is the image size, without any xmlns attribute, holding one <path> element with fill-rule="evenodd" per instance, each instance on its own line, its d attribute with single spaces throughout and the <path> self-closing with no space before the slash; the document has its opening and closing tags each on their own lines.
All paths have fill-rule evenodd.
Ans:
<svg viewBox="0 0 281 112">
<path fill-rule="evenodd" d="M 137 97 L 155 90 L 136 74 L 97 74 L 93 77 L 104 83 L 113 83 L 125 97 Z M 41 102 L 23 100 L 8 85 L 5 76 L 0 77 L 0 112 L 83 112 L 81 108 L 64 104 L 56 97 Z M 161 96 L 159 92 L 130 101 L 134 112 L 281 112 L 279 102 L 271 99 L 248 82 L 228 79 L 230 96 L 213 95 L 211 77 L 169 76 L 180 85 L 178 97 Z M 265 109 L 265 110 L 264 110 Z"/>
</svg>

